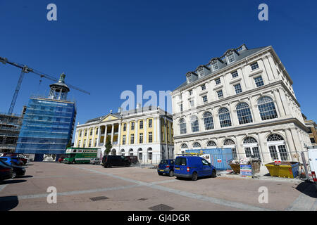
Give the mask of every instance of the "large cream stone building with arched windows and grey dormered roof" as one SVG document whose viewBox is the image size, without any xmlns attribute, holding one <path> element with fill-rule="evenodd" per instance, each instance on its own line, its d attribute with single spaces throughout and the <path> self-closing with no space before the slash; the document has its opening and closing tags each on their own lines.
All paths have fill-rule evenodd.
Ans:
<svg viewBox="0 0 317 225">
<path fill-rule="evenodd" d="M 272 46 L 242 45 L 187 72 L 172 92 L 175 154 L 224 147 L 235 158 L 297 161 L 310 139 L 292 84 Z"/>
</svg>

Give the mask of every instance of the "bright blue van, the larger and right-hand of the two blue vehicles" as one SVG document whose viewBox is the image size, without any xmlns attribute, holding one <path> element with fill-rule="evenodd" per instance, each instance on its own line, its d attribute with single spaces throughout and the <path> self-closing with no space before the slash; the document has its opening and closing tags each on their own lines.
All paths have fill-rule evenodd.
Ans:
<svg viewBox="0 0 317 225">
<path fill-rule="evenodd" d="M 191 178 L 197 181 L 198 177 L 216 177 L 216 168 L 207 160 L 198 156 L 178 156 L 174 163 L 174 175 L 178 177 Z"/>
</svg>

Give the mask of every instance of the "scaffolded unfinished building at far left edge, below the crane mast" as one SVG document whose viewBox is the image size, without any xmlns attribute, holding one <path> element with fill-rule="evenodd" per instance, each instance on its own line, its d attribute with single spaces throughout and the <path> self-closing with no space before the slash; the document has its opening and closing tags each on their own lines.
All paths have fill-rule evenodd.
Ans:
<svg viewBox="0 0 317 225">
<path fill-rule="evenodd" d="M 26 106 L 21 115 L 0 113 L 0 153 L 14 153 Z"/>
</svg>

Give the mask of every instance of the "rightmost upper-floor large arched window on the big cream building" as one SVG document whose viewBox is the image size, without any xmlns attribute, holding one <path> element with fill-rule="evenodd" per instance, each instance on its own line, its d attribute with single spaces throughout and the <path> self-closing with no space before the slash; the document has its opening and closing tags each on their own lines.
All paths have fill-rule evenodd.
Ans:
<svg viewBox="0 0 317 225">
<path fill-rule="evenodd" d="M 271 120 L 278 117 L 278 113 L 276 113 L 273 99 L 268 96 L 263 96 L 259 98 L 258 108 L 262 120 Z"/>
</svg>

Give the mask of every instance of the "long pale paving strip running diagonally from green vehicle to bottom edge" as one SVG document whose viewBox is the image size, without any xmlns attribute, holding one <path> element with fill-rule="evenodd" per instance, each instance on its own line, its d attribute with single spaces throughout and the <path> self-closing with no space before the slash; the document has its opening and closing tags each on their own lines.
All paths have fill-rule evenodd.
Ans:
<svg viewBox="0 0 317 225">
<path fill-rule="evenodd" d="M 236 203 L 236 202 L 232 202 L 230 200 L 224 200 L 224 199 L 221 199 L 221 198 L 208 197 L 208 196 L 205 196 L 205 195 L 194 194 L 194 193 L 190 193 L 190 192 L 187 192 L 187 191 L 180 191 L 180 190 L 177 190 L 177 189 L 167 188 L 167 187 L 159 186 L 159 185 L 156 185 L 156 184 L 146 183 L 146 182 L 143 182 L 143 181 L 137 181 L 137 180 L 134 180 L 134 179 L 128 179 L 128 178 L 125 178 L 125 177 L 122 177 L 122 176 L 117 176 L 117 175 L 113 175 L 113 174 L 109 174 L 109 173 L 105 173 L 105 172 L 99 172 L 99 171 L 94 170 L 94 169 L 87 169 L 87 168 L 84 168 L 84 167 L 77 167 L 77 168 L 85 169 L 87 171 L 95 172 L 95 173 L 98 173 L 98 174 L 103 174 L 103 175 L 106 175 L 106 176 L 111 176 L 111 177 L 116 178 L 116 179 L 121 179 L 123 181 L 128 181 L 128 182 L 132 182 L 132 183 L 138 184 L 140 186 L 147 186 L 149 188 L 158 189 L 160 191 L 167 191 L 167 192 L 174 193 L 174 194 L 177 194 L 177 195 L 185 196 L 187 198 L 194 198 L 194 199 L 197 199 L 197 200 L 203 200 L 203 201 L 206 201 L 206 202 L 209 202 L 209 203 L 213 203 L 213 204 L 217 204 L 217 205 L 224 205 L 224 206 L 227 206 L 227 207 L 235 207 L 237 209 L 242 209 L 242 210 L 273 211 L 273 210 L 269 210 L 269 209 L 266 209 L 266 208 L 263 208 L 263 207 L 256 207 L 254 205 L 247 205 L 247 204 L 244 204 L 244 203 Z"/>
</svg>

